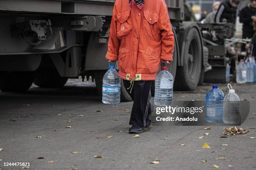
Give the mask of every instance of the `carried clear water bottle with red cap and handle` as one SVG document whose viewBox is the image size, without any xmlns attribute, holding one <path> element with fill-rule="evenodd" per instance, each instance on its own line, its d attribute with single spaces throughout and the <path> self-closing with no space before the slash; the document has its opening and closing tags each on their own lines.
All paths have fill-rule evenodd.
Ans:
<svg viewBox="0 0 256 170">
<path fill-rule="evenodd" d="M 161 63 L 161 72 L 156 75 L 154 103 L 158 106 L 172 105 L 174 78 L 168 71 L 168 67 L 168 63 L 167 67 L 163 67 Z"/>
</svg>

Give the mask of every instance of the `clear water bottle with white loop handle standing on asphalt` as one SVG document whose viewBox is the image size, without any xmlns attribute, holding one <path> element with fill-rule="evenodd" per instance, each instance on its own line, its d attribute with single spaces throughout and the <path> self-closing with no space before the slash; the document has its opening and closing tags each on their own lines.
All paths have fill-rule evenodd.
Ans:
<svg viewBox="0 0 256 170">
<path fill-rule="evenodd" d="M 223 122 L 226 124 L 238 124 L 241 123 L 240 99 L 230 84 L 228 84 L 228 89 L 229 93 L 223 101 Z"/>
</svg>

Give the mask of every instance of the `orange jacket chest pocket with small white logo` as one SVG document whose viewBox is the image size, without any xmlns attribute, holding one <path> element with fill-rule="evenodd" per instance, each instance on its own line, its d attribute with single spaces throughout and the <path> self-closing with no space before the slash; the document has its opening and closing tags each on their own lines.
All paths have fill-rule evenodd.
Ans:
<svg viewBox="0 0 256 170">
<path fill-rule="evenodd" d="M 118 38 L 129 37 L 130 35 L 130 32 L 132 30 L 130 13 L 131 10 L 117 13 L 116 34 Z"/>
</svg>

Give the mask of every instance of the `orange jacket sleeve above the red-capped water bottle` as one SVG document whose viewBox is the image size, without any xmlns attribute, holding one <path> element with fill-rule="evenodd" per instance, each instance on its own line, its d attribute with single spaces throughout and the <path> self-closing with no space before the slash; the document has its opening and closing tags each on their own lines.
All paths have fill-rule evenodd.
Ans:
<svg viewBox="0 0 256 170">
<path fill-rule="evenodd" d="M 159 17 L 159 29 L 161 30 L 161 59 L 172 61 L 172 55 L 174 51 L 174 34 L 172 32 L 172 25 L 170 22 L 168 9 L 163 2 L 163 9 L 161 10 Z"/>
</svg>

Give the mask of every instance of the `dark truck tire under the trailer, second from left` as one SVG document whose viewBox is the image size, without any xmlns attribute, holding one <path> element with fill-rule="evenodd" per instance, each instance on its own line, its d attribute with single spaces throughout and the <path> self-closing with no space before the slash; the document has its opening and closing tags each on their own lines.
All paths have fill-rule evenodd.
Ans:
<svg viewBox="0 0 256 170">
<path fill-rule="evenodd" d="M 68 78 L 61 77 L 56 68 L 41 67 L 36 70 L 34 84 L 43 88 L 60 88 L 63 87 Z"/>
</svg>

